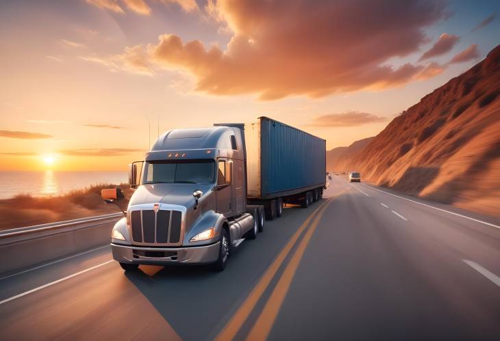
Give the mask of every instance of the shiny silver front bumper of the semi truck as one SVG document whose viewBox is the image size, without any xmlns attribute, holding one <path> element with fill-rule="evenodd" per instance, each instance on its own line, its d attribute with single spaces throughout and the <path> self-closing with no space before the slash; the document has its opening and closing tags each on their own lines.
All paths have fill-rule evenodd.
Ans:
<svg viewBox="0 0 500 341">
<path fill-rule="evenodd" d="M 111 243 L 114 260 L 129 264 L 209 264 L 218 258 L 220 242 L 194 247 L 137 247 Z"/>
</svg>

